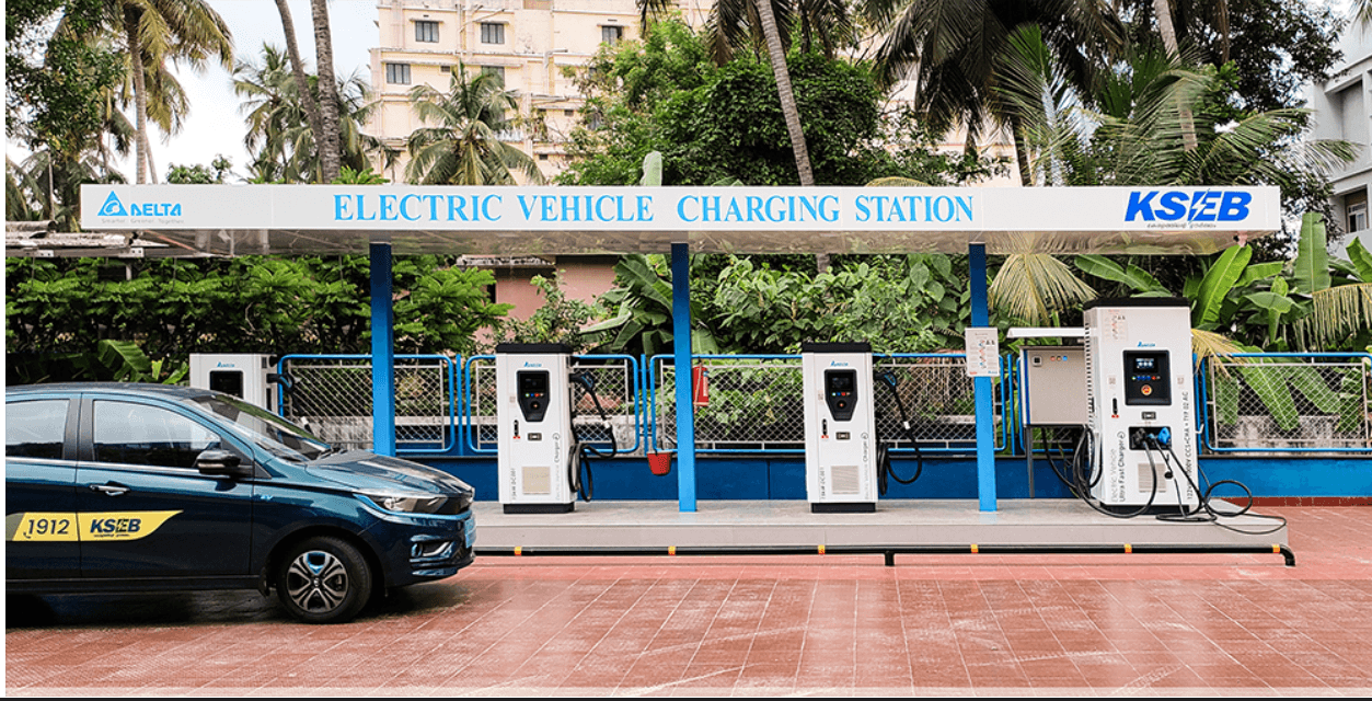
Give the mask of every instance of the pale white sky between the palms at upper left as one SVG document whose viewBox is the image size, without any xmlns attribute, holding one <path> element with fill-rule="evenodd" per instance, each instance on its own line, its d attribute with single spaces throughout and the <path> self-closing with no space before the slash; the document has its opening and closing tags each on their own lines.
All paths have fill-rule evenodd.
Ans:
<svg viewBox="0 0 1372 701">
<path fill-rule="evenodd" d="M 235 60 L 261 63 L 262 44 L 270 43 L 285 51 L 285 33 L 281 30 L 281 15 L 274 0 L 209 0 L 233 33 Z M 309 0 L 289 0 L 291 19 L 295 22 L 296 41 L 300 58 L 314 73 L 314 30 L 310 18 Z M 333 67 L 338 75 L 359 73 L 370 82 L 368 51 L 377 45 L 376 0 L 329 0 L 329 23 L 333 37 Z M 248 155 L 243 147 L 247 125 L 239 111 L 239 99 L 233 95 L 230 71 L 218 63 L 210 64 L 196 75 L 188 69 L 178 71 L 181 86 L 191 103 L 191 114 L 182 130 L 167 139 L 152 126 L 152 162 L 158 169 L 158 182 L 166 181 L 172 163 L 209 166 L 214 156 L 224 154 L 233 162 L 233 171 L 241 178 L 247 173 Z M 126 110 L 130 115 L 132 110 Z M 5 147 L 10 158 L 21 161 L 26 152 L 16 144 Z M 133 181 L 132 154 L 117 166 L 129 181 Z M 236 181 L 237 178 L 230 178 Z"/>
</svg>

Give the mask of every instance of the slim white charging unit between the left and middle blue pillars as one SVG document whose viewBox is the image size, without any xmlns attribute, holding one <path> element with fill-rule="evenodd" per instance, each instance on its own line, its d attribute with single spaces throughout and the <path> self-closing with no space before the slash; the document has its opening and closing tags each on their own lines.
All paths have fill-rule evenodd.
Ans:
<svg viewBox="0 0 1372 701">
<path fill-rule="evenodd" d="M 561 343 L 495 346 L 497 465 L 505 513 L 565 513 L 576 506 L 576 460 Z"/>
</svg>

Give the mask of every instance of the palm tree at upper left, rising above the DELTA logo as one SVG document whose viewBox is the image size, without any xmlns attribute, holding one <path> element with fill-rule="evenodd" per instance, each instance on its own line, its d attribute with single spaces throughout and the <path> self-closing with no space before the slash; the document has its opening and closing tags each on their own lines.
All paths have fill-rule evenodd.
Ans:
<svg viewBox="0 0 1372 701">
<path fill-rule="evenodd" d="M 206 0 L 104 0 L 104 26 L 123 38 L 133 80 L 136 182 L 148 178 L 148 85 L 147 75 L 161 75 L 167 60 L 187 62 L 200 69 L 218 58 L 225 69 L 233 64 L 233 41 L 228 25 Z"/>
</svg>

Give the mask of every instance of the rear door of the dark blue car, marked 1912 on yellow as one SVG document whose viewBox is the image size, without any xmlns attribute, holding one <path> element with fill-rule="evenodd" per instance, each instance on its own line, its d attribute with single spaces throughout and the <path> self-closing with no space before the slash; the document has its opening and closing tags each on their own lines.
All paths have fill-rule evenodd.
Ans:
<svg viewBox="0 0 1372 701">
<path fill-rule="evenodd" d="M 5 579 L 81 575 L 75 412 L 62 396 L 5 402 Z"/>
</svg>

